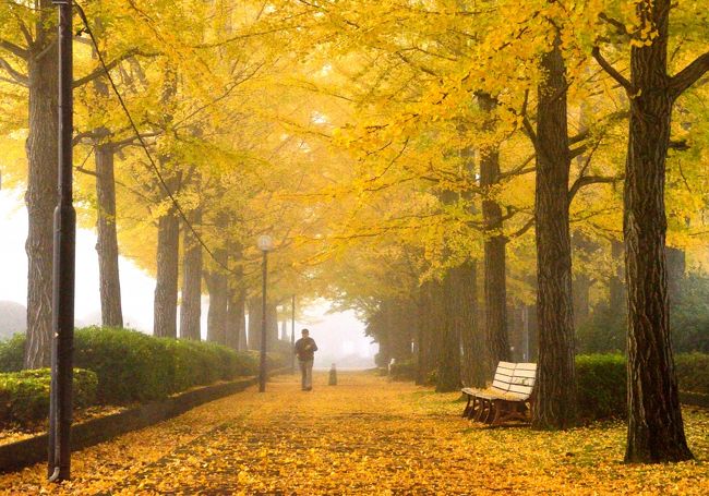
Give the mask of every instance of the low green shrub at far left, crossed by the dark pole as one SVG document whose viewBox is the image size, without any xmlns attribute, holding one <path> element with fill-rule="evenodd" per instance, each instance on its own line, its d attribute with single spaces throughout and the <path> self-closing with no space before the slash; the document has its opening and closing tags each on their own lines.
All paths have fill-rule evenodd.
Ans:
<svg viewBox="0 0 709 496">
<path fill-rule="evenodd" d="M 49 416 L 49 368 L 0 374 L 0 424 L 28 425 Z M 93 404 L 98 378 L 91 371 L 74 368 L 74 407 Z"/>
</svg>

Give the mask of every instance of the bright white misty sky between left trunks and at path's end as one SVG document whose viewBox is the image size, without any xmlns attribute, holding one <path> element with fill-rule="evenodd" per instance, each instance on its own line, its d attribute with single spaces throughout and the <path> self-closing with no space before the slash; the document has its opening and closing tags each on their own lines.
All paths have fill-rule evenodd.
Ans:
<svg viewBox="0 0 709 496">
<path fill-rule="evenodd" d="M 0 339 L 7 339 L 26 328 L 27 300 L 27 211 L 22 192 L 0 191 Z M 76 299 L 77 327 L 100 324 L 98 293 L 98 258 L 96 234 L 87 229 L 76 232 Z M 153 329 L 153 297 L 155 279 L 131 261 L 120 258 L 121 299 L 125 327 L 151 334 Z M 202 332 L 206 337 L 209 299 L 202 300 Z M 364 324 L 353 312 L 332 312 L 327 301 L 321 300 L 301 309 L 296 322 L 296 339 L 307 327 L 320 350 L 315 367 L 370 368 L 374 366 L 377 347 L 364 336 Z M 280 332 L 280 325 L 279 325 Z M 291 323 L 287 332 L 290 337 Z"/>
</svg>

